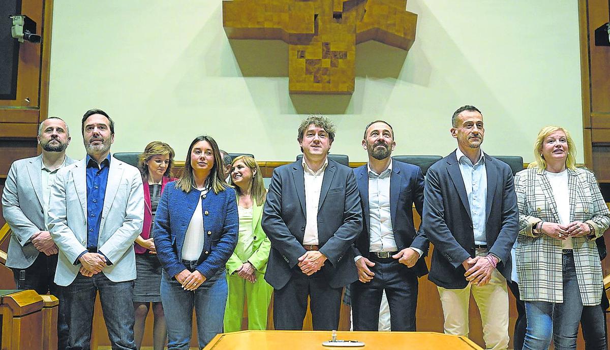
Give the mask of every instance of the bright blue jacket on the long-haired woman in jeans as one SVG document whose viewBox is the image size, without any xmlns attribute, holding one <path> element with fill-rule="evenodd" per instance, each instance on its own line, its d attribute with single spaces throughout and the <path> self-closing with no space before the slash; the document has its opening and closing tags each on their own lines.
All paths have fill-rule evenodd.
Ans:
<svg viewBox="0 0 610 350">
<path fill-rule="evenodd" d="M 157 213 L 155 215 L 153 234 L 157 256 L 161 265 L 170 277 L 176 276 L 185 269 L 182 264 L 182 246 L 198 201 L 200 191 L 192 190 L 185 193 L 176 187 L 176 182 L 168 182 L 161 194 Z M 201 200 L 205 240 L 203 251 L 197 266 L 206 279 L 221 269 L 231 257 L 237 245 L 237 202 L 235 190 L 225 188 L 215 194 L 207 192 Z M 206 214 L 207 213 L 207 214 Z"/>
</svg>

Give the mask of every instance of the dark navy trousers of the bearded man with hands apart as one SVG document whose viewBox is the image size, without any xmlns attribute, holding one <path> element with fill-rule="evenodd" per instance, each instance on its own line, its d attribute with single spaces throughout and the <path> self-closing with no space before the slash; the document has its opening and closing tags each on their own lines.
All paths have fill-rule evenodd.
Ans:
<svg viewBox="0 0 610 350">
<path fill-rule="evenodd" d="M 396 259 L 371 257 L 370 270 L 375 276 L 370 282 L 359 280 L 351 284 L 351 307 L 354 330 L 378 330 L 379 305 L 384 289 L 390 306 L 392 331 L 415 332 L 417 309 L 417 275 Z"/>
</svg>

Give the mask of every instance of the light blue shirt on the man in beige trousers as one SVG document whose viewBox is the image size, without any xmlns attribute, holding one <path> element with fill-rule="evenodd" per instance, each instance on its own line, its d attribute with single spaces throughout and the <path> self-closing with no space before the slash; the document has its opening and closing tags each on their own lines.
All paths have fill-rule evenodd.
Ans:
<svg viewBox="0 0 610 350">
<path fill-rule="evenodd" d="M 481 157 L 475 164 L 470 162 L 470 159 L 459 148 L 456 149 L 456 157 L 458 158 L 459 171 L 462 173 L 462 179 L 464 180 L 468 205 L 470 205 L 475 245 L 486 245 L 487 171 L 483 150 L 481 150 Z"/>
</svg>

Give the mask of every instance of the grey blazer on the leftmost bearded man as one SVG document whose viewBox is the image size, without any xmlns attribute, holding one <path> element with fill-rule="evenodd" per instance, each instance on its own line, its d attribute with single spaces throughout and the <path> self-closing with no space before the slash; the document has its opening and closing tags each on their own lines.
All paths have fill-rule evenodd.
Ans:
<svg viewBox="0 0 610 350">
<path fill-rule="evenodd" d="M 74 162 L 66 155 L 66 166 Z M 45 230 L 41 168 L 42 155 L 15 160 L 2 192 L 2 213 L 12 230 L 6 259 L 6 266 L 11 268 L 29 267 L 40 253 L 30 244 L 30 238 Z"/>
</svg>

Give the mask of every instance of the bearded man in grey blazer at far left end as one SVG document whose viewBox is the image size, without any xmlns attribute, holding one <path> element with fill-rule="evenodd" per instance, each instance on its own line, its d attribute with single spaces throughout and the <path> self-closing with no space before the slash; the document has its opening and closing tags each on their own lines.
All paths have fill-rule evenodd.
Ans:
<svg viewBox="0 0 610 350">
<path fill-rule="evenodd" d="M 53 282 L 57 246 L 45 219 L 49 188 L 57 171 L 74 163 L 66 156 L 70 130 L 65 121 L 52 116 L 40 123 L 37 139 L 42 154 L 13 162 L 2 193 L 4 220 L 12 230 L 6 266 L 13 270 L 16 288 L 33 289 L 41 295 L 50 292 L 62 305 L 61 291 Z M 57 347 L 64 349 L 68 329 L 61 311 L 57 319 Z"/>
</svg>

